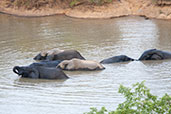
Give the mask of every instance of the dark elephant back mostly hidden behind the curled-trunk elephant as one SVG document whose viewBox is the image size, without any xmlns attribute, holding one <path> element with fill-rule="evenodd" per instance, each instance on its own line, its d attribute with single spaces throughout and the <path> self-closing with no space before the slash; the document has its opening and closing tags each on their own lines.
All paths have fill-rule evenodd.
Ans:
<svg viewBox="0 0 171 114">
<path fill-rule="evenodd" d="M 56 67 L 61 62 L 62 62 L 61 60 L 55 60 L 55 61 L 40 61 L 40 62 L 32 63 L 30 66 Z"/>
</svg>

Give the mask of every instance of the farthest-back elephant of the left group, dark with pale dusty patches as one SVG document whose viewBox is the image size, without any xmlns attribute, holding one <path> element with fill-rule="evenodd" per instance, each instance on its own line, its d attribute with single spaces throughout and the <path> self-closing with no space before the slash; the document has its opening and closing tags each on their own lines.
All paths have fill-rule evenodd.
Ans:
<svg viewBox="0 0 171 114">
<path fill-rule="evenodd" d="M 33 59 L 38 61 L 41 60 L 53 61 L 53 60 L 70 60 L 73 58 L 85 60 L 85 58 L 76 50 L 65 50 L 59 53 L 53 53 L 53 52 L 39 53 Z"/>
</svg>

